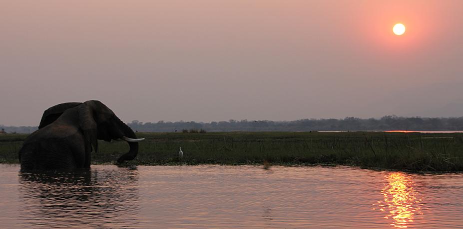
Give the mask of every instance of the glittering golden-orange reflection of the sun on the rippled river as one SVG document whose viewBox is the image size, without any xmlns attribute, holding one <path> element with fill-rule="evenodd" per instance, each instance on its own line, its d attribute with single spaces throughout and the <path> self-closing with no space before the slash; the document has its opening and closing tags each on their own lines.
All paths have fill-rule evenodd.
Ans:
<svg viewBox="0 0 463 229">
<path fill-rule="evenodd" d="M 378 201 L 378 209 L 389 212 L 385 218 L 393 219 L 392 226 L 406 228 L 414 221 L 416 214 L 423 214 L 420 207 L 422 198 L 414 189 L 411 175 L 393 172 L 386 175 L 386 180 L 388 182 L 381 190 L 384 200 Z"/>
</svg>

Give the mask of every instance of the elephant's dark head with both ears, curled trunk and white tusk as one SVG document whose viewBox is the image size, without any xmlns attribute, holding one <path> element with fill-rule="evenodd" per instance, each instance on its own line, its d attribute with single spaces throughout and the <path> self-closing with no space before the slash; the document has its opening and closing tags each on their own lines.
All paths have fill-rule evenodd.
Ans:
<svg viewBox="0 0 463 229">
<path fill-rule="evenodd" d="M 51 130 L 43 130 L 48 125 L 54 125 Z M 53 131 L 53 129 L 77 128 L 83 135 L 85 154 L 98 151 L 98 139 L 111 141 L 112 139 L 123 139 L 128 142 L 130 150 L 118 158 L 118 162 L 132 160 L 138 153 L 138 141 L 144 138 L 136 138 L 133 130 L 122 122 L 114 112 L 105 104 L 97 100 L 85 102 L 66 102 L 54 105 L 43 112 L 40 120 L 39 130 Z M 43 135 L 43 134 L 42 134 Z M 89 166 L 90 158 L 86 156 L 85 164 Z"/>
</svg>

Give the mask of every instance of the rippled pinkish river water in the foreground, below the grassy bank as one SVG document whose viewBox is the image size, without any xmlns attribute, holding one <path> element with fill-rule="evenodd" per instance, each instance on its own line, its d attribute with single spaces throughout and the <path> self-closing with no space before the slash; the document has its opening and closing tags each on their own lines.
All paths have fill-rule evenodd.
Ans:
<svg viewBox="0 0 463 229">
<path fill-rule="evenodd" d="M 209 165 L 0 171 L 1 228 L 463 227 L 463 174 Z"/>
</svg>

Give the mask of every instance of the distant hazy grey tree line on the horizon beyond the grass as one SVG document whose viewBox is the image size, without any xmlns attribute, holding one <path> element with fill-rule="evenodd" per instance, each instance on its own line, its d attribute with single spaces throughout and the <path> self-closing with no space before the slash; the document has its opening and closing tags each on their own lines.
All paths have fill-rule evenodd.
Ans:
<svg viewBox="0 0 463 229">
<path fill-rule="evenodd" d="M 336 131 L 336 130 L 463 130 L 463 117 L 401 117 L 387 115 L 381 118 L 306 118 L 293 121 L 233 120 L 228 121 L 158 121 L 127 123 L 140 132 L 205 131 Z M 7 133 L 31 133 L 37 126 L 5 126 Z"/>
</svg>

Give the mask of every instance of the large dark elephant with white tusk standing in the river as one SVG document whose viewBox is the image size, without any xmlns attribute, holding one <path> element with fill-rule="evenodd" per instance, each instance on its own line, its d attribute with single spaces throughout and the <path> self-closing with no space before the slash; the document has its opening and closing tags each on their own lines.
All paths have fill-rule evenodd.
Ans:
<svg viewBox="0 0 463 229">
<path fill-rule="evenodd" d="M 19 149 L 21 170 L 75 170 L 90 167 L 92 147 L 97 140 L 123 139 L 130 150 L 118 163 L 132 160 L 138 153 L 133 130 L 98 100 L 65 102 L 43 112 L 38 129 L 26 137 Z"/>
</svg>

